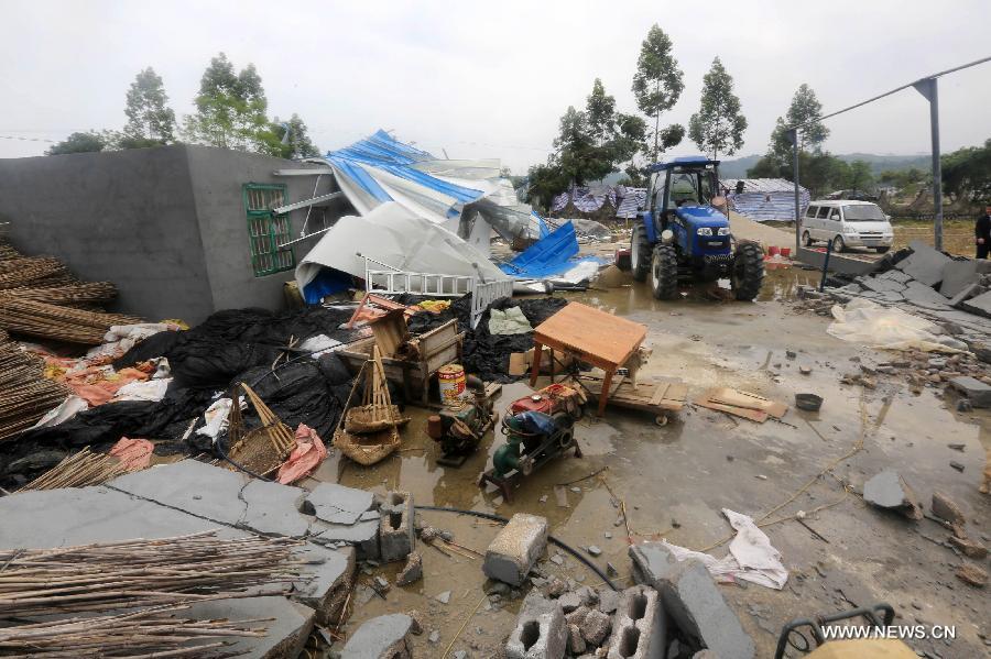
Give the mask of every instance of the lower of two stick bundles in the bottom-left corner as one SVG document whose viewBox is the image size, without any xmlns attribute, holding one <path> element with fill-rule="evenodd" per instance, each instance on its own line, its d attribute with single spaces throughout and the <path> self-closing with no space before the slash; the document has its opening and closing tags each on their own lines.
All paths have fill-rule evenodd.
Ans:
<svg viewBox="0 0 991 659">
<path fill-rule="evenodd" d="M 230 622 L 176 617 L 188 605 L 170 605 L 137 612 L 45 620 L 0 628 L 0 656 L 76 659 L 78 657 L 232 657 L 237 637 L 265 636 L 274 618 Z"/>
</svg>

